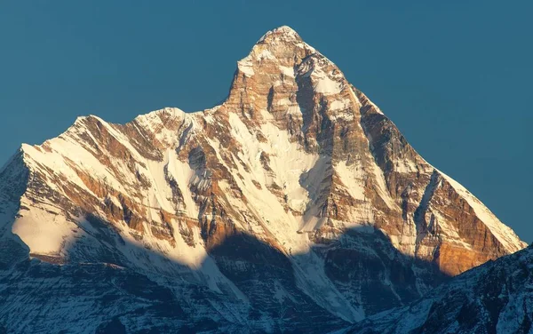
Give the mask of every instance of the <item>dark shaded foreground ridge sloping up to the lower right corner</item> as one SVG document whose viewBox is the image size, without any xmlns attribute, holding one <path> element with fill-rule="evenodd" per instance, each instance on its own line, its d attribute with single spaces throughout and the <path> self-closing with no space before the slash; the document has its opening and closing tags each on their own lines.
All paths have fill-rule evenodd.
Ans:
<svg viewBox="0 0 533 334">
<path fill-rule="evenodd" d="M 473 268 L 410 306 L 371 316 L 346 334 L 533 332 L 533 246 Z"/>
</svg>

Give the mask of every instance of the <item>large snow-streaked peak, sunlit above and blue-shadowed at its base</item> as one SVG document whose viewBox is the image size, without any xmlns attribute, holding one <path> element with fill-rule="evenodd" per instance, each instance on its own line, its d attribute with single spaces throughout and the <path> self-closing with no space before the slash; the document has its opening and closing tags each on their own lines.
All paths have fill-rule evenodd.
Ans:
<svg viewBox="0 0 533 334">
<path fill-rule="evenodd" d="M 80 117 L 0 180 L 8 330 L 323 332 L 525 247 L 288 27 L 220 106 Z"/>
</svg>

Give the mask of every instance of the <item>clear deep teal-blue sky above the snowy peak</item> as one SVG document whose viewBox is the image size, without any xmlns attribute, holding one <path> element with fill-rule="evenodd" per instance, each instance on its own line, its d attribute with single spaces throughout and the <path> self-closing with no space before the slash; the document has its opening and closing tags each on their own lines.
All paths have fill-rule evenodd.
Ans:
<svg viewBox="0 0 533 334">
<path fill-rule="evenodd" d="M 530 0 L 0 0 L 0 161 L 78 115 L 212 107 L 235 62 L 289 25 L 531 243 L 532 12 Z"/>
</svg>

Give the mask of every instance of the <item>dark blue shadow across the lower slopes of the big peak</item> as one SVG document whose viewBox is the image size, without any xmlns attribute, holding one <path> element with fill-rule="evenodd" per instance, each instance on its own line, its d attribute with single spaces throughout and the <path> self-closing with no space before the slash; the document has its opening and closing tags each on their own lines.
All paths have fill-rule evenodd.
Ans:
<svg viewBox="0 0 533 334">
<path fill-rule="evenodd" d="M 128 242 L 96 216 L 79 227 L 94 239 L 68 243 L 64 261 L 27 251 L 0 271 L 7 332 L 322 333 L 406 305 L 447 279 L 372 227 L 301 254 L 235 233 L 196 267 Z"/>
</svg>

